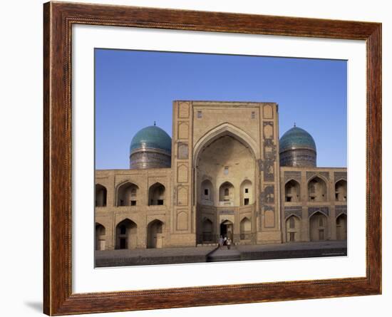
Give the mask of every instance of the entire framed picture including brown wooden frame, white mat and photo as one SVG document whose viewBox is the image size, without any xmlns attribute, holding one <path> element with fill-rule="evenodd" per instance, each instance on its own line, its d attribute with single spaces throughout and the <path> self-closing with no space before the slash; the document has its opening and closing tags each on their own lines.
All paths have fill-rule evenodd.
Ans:
<svg viewBox="0 0 392 317">
<path fill-rule="evenodd" d="M 381 24 L 43 12 L 44 313 L 381 293 Z"/>
</svg>

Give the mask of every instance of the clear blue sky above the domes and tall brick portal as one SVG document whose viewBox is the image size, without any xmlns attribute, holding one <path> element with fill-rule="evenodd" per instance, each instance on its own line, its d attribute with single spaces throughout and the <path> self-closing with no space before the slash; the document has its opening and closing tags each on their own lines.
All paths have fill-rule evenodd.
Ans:
<svg viewBox="0 0 392 317">
<path fill-rule="evenodd" d="M 347 63 L 96 49 L 96 169 L 127 169 L 138 130 L 172 134 L 172 100 L 270 101 L 279 135 L 296 126 L 316 142 L 317 166 L 346 167 Z"/>
</svg>

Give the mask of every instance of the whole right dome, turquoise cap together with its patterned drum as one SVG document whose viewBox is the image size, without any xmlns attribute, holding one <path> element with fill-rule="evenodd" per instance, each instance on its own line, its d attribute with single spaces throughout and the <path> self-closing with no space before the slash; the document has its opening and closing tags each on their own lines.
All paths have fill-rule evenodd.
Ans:
<svg viewBox="0 0 392 317">
<path fill-rule="evenodd" d="M 316 167 L 316 153 L 313 137 L 296 126 L 279 140 L 280 166 Z"/>
</svg>

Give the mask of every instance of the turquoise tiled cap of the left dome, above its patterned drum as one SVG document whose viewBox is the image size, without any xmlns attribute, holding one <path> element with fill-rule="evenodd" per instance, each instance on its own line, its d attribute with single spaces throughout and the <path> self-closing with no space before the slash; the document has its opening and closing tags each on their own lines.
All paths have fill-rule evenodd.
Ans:
<svg viewBox="0 0 392 317">
<path fill-rule="evenodd" d="M 156 125 L 143 128 L 130 142 L 130 152 L 138 149 L 158 149 L 172 153 L 172 138 Z"/>
</svg>

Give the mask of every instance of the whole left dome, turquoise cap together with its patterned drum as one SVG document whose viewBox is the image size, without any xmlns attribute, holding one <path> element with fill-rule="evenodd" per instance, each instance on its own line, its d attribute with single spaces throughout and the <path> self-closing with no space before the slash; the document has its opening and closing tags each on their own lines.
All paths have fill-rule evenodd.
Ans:
<svg viewBox="0 0 392 317">
<path fill-rule="evenodd" d="M 171 166 L 172 138 L 156 125 L 143 128 L 130 142 L 130 169 Z"/>
</svg>

